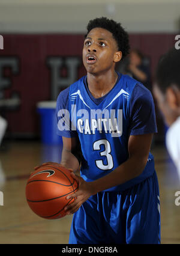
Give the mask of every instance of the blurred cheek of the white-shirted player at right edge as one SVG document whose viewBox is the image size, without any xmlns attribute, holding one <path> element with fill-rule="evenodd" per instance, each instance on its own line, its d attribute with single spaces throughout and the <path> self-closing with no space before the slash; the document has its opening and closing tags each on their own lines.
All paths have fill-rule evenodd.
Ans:
<svg viewBox="0 0 180 256">
<path fill-rule="evenodd" d="M 153 87 L 153 94 L 155 99 L 157 100 L 158 108 L 160 109 L 164 116 L 164 120 L 170 126 L 175 121 L 176 116 L 167 102 L 167 95 L 164 95 L 161 92 L 157 84 L 155 84 Z"/>
</svg>

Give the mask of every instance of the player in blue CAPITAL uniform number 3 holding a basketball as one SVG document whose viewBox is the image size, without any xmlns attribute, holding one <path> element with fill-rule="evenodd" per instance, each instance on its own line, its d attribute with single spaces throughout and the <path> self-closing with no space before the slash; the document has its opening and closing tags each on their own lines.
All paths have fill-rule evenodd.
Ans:
<svg viewBox="0 0 180 256">
<path fill-rule="evenodd" d="M 79 189 L 69 243 L 160 243 L 158 180 L 149 153 L 157 132 L 151 93 L 116 73 L 128 54 L 128 34 L 106 17 L 90 20 L 83 45 L 87 75 L 57 100 L 61 164 Z M 82 152 L 80 157 L 78 146 Z"/>
</svg>

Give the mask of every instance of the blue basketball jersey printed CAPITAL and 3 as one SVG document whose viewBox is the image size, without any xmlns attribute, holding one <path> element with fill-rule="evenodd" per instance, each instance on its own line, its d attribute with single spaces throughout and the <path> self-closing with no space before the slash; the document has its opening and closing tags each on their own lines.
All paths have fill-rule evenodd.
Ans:
<svg viewBox="0 0 180 256">
<path fill-rule="evenodd" d="M 154 133 L 156 128 L 154 121 L 152 130 L 145 128 L 142 132 L 140 129 L 137 133 L 131 132 L 132 122 L 134 126 L 138 126 L 134 118 L 136 108 L 134 112 L 131 109 L 134 88 L 138 83 L 135 79 L 119 75 L 116 85 L 98 104 L 89 96 L 84 79 L 85 77 L 82 77 L 68 87 L 64 109 L 61 106 L 62 94 L 59 94 L 56 107 L 58 134 L 67 137 L 79 136 L 83 155 L 80 174 L 85 181 L 93 181 L 109 174 L 128 159 L 130 135 Z M 145 88 L 143 90 L 147 91 Z M 146 119 L 150 118 L 149 112 L 145 111 L 144 115 Z M 65 133 L 65 130 L 70 130 L 71 133 Z M 154 157 L 149 153 L 142 174 L 106 191 L 127 189 L 145 180 L 153 172 Z"/>
</svg>

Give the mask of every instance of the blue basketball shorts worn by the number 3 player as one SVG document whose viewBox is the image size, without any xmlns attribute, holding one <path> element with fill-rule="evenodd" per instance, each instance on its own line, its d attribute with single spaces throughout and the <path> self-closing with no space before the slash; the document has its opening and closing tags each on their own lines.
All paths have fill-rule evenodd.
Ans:
<svg viewBox="0 0 180 256">
<path fill-rule="evenodd" d="M 160 243 L 160 197 L 156 172 L 122 192 L 92 195 L 74 213 L 69 243 Z"/>
</svg>

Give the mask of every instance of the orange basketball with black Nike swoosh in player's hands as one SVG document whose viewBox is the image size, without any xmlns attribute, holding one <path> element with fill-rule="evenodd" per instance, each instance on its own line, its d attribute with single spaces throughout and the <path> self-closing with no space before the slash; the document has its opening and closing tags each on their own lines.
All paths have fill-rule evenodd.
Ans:
<svg viewBox="0 0 180 256">
<path fill-rule="evenodd" d="M 46 219 L 58 219 L 66 215 L 64 207 L 73 203 L 67 195 L 77 191 L 78 184 L 64 166 L 52 164 L 34 171 L 26 184 L 26 200 L 31 210 Z"/>
</svg>

